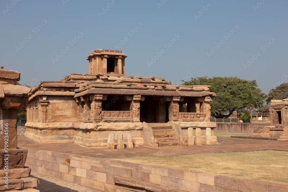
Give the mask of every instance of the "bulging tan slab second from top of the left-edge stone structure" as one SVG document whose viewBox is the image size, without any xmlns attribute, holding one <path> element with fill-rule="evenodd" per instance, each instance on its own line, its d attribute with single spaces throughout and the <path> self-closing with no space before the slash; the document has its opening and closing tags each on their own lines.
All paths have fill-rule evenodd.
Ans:
<svg viewBox="0 0 288 192">
<path fill-rule="evenodd" d="M 7 96 L 28 97 L 31 88 L 22 85 L 3 84 L 4 94 Z"/>
</svg>

